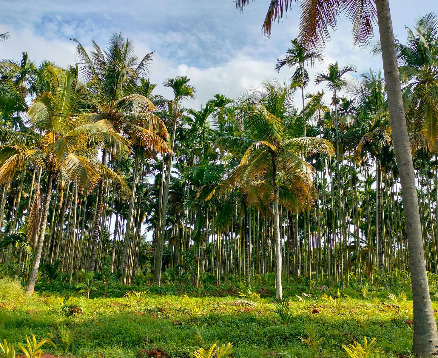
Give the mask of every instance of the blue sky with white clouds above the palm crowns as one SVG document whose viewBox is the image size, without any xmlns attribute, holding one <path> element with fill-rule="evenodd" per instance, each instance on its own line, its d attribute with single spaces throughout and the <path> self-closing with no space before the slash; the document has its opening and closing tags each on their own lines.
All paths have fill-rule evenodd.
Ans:
<svg viewBox="0 0 438 358">
<path fill-rule="evenodd" d="M 3 0 L 0 33 L 11 39 L 0 43 L 0 58 L 18 60 L 27 51 L 39 63 L 51 60 L 60 66 L 74 64 L 77 38 L 85 46 L 94 39 L 102 47 L 113 32 L 122 32 L 134 43 L 139 57 L 155 51 L 151 79 L 158 91 L 170 95 L 161 83 L 166 77 L 186 74 L 197 89 L 186 106 L 199 108 L 215 93 L 239 96 L 248 86 L 269 79 L 287 80 L 290 70 L 274 71 L 274 63 L 297 35 L 298 12 L 276 23 L 265 39 L 261 24 L 268 0 L 258 0 L 244 12 L 232 0 Z M 391 0 L 394 31 L 406 36 L 405 25 L 433 11 L 434 0 Z M 341 21 L 324 50 L 325 62 L 354 64 L 359 72 L 381 68 L 381 58 L 368 49 L 352 46 L 348 21 Z M 308 91 L 314 90 L 311 85 Z M 299 101 L 297 101 L 299 103 Z"/>
</svg>

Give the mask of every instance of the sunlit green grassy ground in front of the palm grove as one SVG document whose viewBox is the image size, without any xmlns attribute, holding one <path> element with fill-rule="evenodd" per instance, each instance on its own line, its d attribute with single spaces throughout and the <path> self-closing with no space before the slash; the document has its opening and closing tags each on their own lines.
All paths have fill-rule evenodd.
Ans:
<svg viewBox="0 0 438 358">
<path fill-rule="evenodd" d="M 131 287 L 115 290 L 127 288 Z M 402 294 L 397 304 L 388 298 L 387 291 L 370 291 L 367 298 L 360 291 L 341 291 L 351 298 L 342 295 L 338 313 L 336 306 L 325 300 L 315 304 L 314 298 L 323 295 L 323 291 L 314 290 L 311 298 L 300 302 L 294 294 L 300 294 L 301 289 L 291 290 L 292 319 L 285 325 L 272 321 L 278 316 L 269 311 L 273 306 L 272 291 L 268 290 L 259 291 L 265 296 L 262 298 L 265 308 L 238 303 L 236 291 L 230 287 L 192 290 L 189 298 L 174 287 L 155 287 L 160 293 L 153 293 L 154 287 L 150 287 L 145 298 L 134 300 L 132 305 L 124 297 L 87 299 L 84 295 L 61 305 L 56 297 L 59 294 L 48 290 L 45 287 L 45 291 L 28 297 L 17 281 L 0 280 L 0 322 L 2 316 L 6 317 L 0 328 L 1 340 L 6 339 L 18 350 L 17 343 L 24 343 L 26 335 L 33 333 L 37 339 L 49 337 L 60 346 L 57 323 L 66 323 L 74 330 L 69 348 L 73 356 L 146 357 L 145 351 L 159 347 L 170 357 L 191 357 L 200 347 L 190 342 L 194 340 L 194 327 L 199 324 L 208 329 L 211 341 L 234 342 L 234 357 L 346 357 L 342 344 L 354 340 L 362 343 L 364 335 L 378 339 L 380 356 L 408 355 L 412 344 L 412 301 L 403 301 Z M 184 288 L 178 291 L 184 292 Z M 224 297 L 211 296 L 211 292 Z M 202 298 L 193 296 L 202 294 L 204 305 L 196 317 L 191 306 L 194 301 L 199 306 Z M 328 294 L 336 295 L 334 291 Z M 433 305 L 438 308 L 437 303 Z M 319 351 L 307 347 L 299 338 L 306 337 L 304 325 L 311 322 L 316 326 L 318 339 L 324 337 Z M 43 346 L 43 351 L 62 355 L 49 344 Z"/>
</svg>

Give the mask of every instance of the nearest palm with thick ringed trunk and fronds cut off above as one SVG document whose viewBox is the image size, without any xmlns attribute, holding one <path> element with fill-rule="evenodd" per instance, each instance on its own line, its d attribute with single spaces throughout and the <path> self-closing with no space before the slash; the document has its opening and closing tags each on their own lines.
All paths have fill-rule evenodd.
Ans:
<svg viewBox="0 0 438 358">
<path fill-rule="evenodd" d="M 249 0 L 235 0 L 237 7 L 243 9 Z M 272 21 L 282 18 L 283 11 L 292 10 L 295 1 L 271 0 L 263 24 L 267 35 L 271 32 Z M 403 203 L 406 214 L 406 234 L 408 237 L 411 280 L 413 287 L 414 334 L 413 352 L 418 356 L 430 357 L 437 353 L 438 332 L 432 311 L 424 263 L 424 246 L 421 233 L 420 211 L 418 206 L 415 174 L 403 96 L 397 64 L 396 40 L 392 30 L 389 0 L 366 0 L 352 2 L 340 0 L 326 1 L 314 6 L 313 1 L 300 1 L 301 23 L 299 38 L 309 47 L 321 47 L 329 38 L 329 28 L 336 28 L 340 13 L 346 14 L 353 23 L 353 39 L 359 45 L 368 44 L 374 31 L 377 18 L 383 69 L 385 72 L 388 96 L 389 118 L 392 128 L 392 140 L 396 152 L 396 162 L 403 191 Z M 418 264 L 420 263 L 420 264 Z"/>
</svg>

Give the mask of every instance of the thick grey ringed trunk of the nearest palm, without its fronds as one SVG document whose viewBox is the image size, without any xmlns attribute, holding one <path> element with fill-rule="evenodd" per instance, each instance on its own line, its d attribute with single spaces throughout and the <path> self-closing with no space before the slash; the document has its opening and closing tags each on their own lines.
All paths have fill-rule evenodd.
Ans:
<svg viewBox="0 0 438 358">
<path fill-rule="evenodd" d="M 413 171 L 409 135 L 403 108 L 396 45 L 388 0 L 376 0 L 380 32 L 383 69 L 388 94 L 389 119 L 392 140 L 396 152 L 402 185 L 403 206 L 406 216 L 406 234 L 409 248 L 410 272 L 413 299 L 413 353 L 432 357 L 438 351 L 438 333 L 434 319 L 424 262 L 424 248 L 421 233 L 420 211 Z"/>
</svg>

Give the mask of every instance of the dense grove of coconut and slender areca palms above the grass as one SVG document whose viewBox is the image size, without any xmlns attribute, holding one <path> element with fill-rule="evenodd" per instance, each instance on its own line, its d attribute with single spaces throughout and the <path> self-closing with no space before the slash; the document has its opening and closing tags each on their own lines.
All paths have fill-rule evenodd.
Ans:
<svg viewBox="0 0 438 358">
<path fill-rule="evenodd" d="M 267 32 L 290 9 L 273 4 Z M 360 44 L 377 16 L 370 4 L 353 21 Z M 390 26 L 385 4 L 375 6 Z M 354 20 L 353 5 L 341 10 Z M 349 80 L 357 69 L 337 62 L 310 78 L 335 18 L 312 32 L 302 11 L 303 31 L 276 63 L 291 68 L 290 83 L 217 94 L 200 110 L 184 107 L 196 93 L 185 76 L 163 82 L 171 98 L 157 94 L 154 54 L 138 58 L 121 34 L 89 51 L 74 40 L 80 60 L 68 68 L 27 53 L 3 60 L 1 274 L 23 277 L 32 293 L 58 267 L 70 282 L 95 271 L 129 283 L 150 269 L 160 284 L 167 269 L 196 286 L 275 273 L 281 297 L 284 279 L 386 284 L 410 271 L 414 332 L 430 328 L 414 351 L 436 351 L 426 269 L 438 273 L 438 17 L 417 21 L 404 44 L 392 28 L 382 34 L 380 19 L 373 51 L 383 50 L 385 78 Z M 306 93 L 310 82 L 320 92 Z"/>
</svg>

